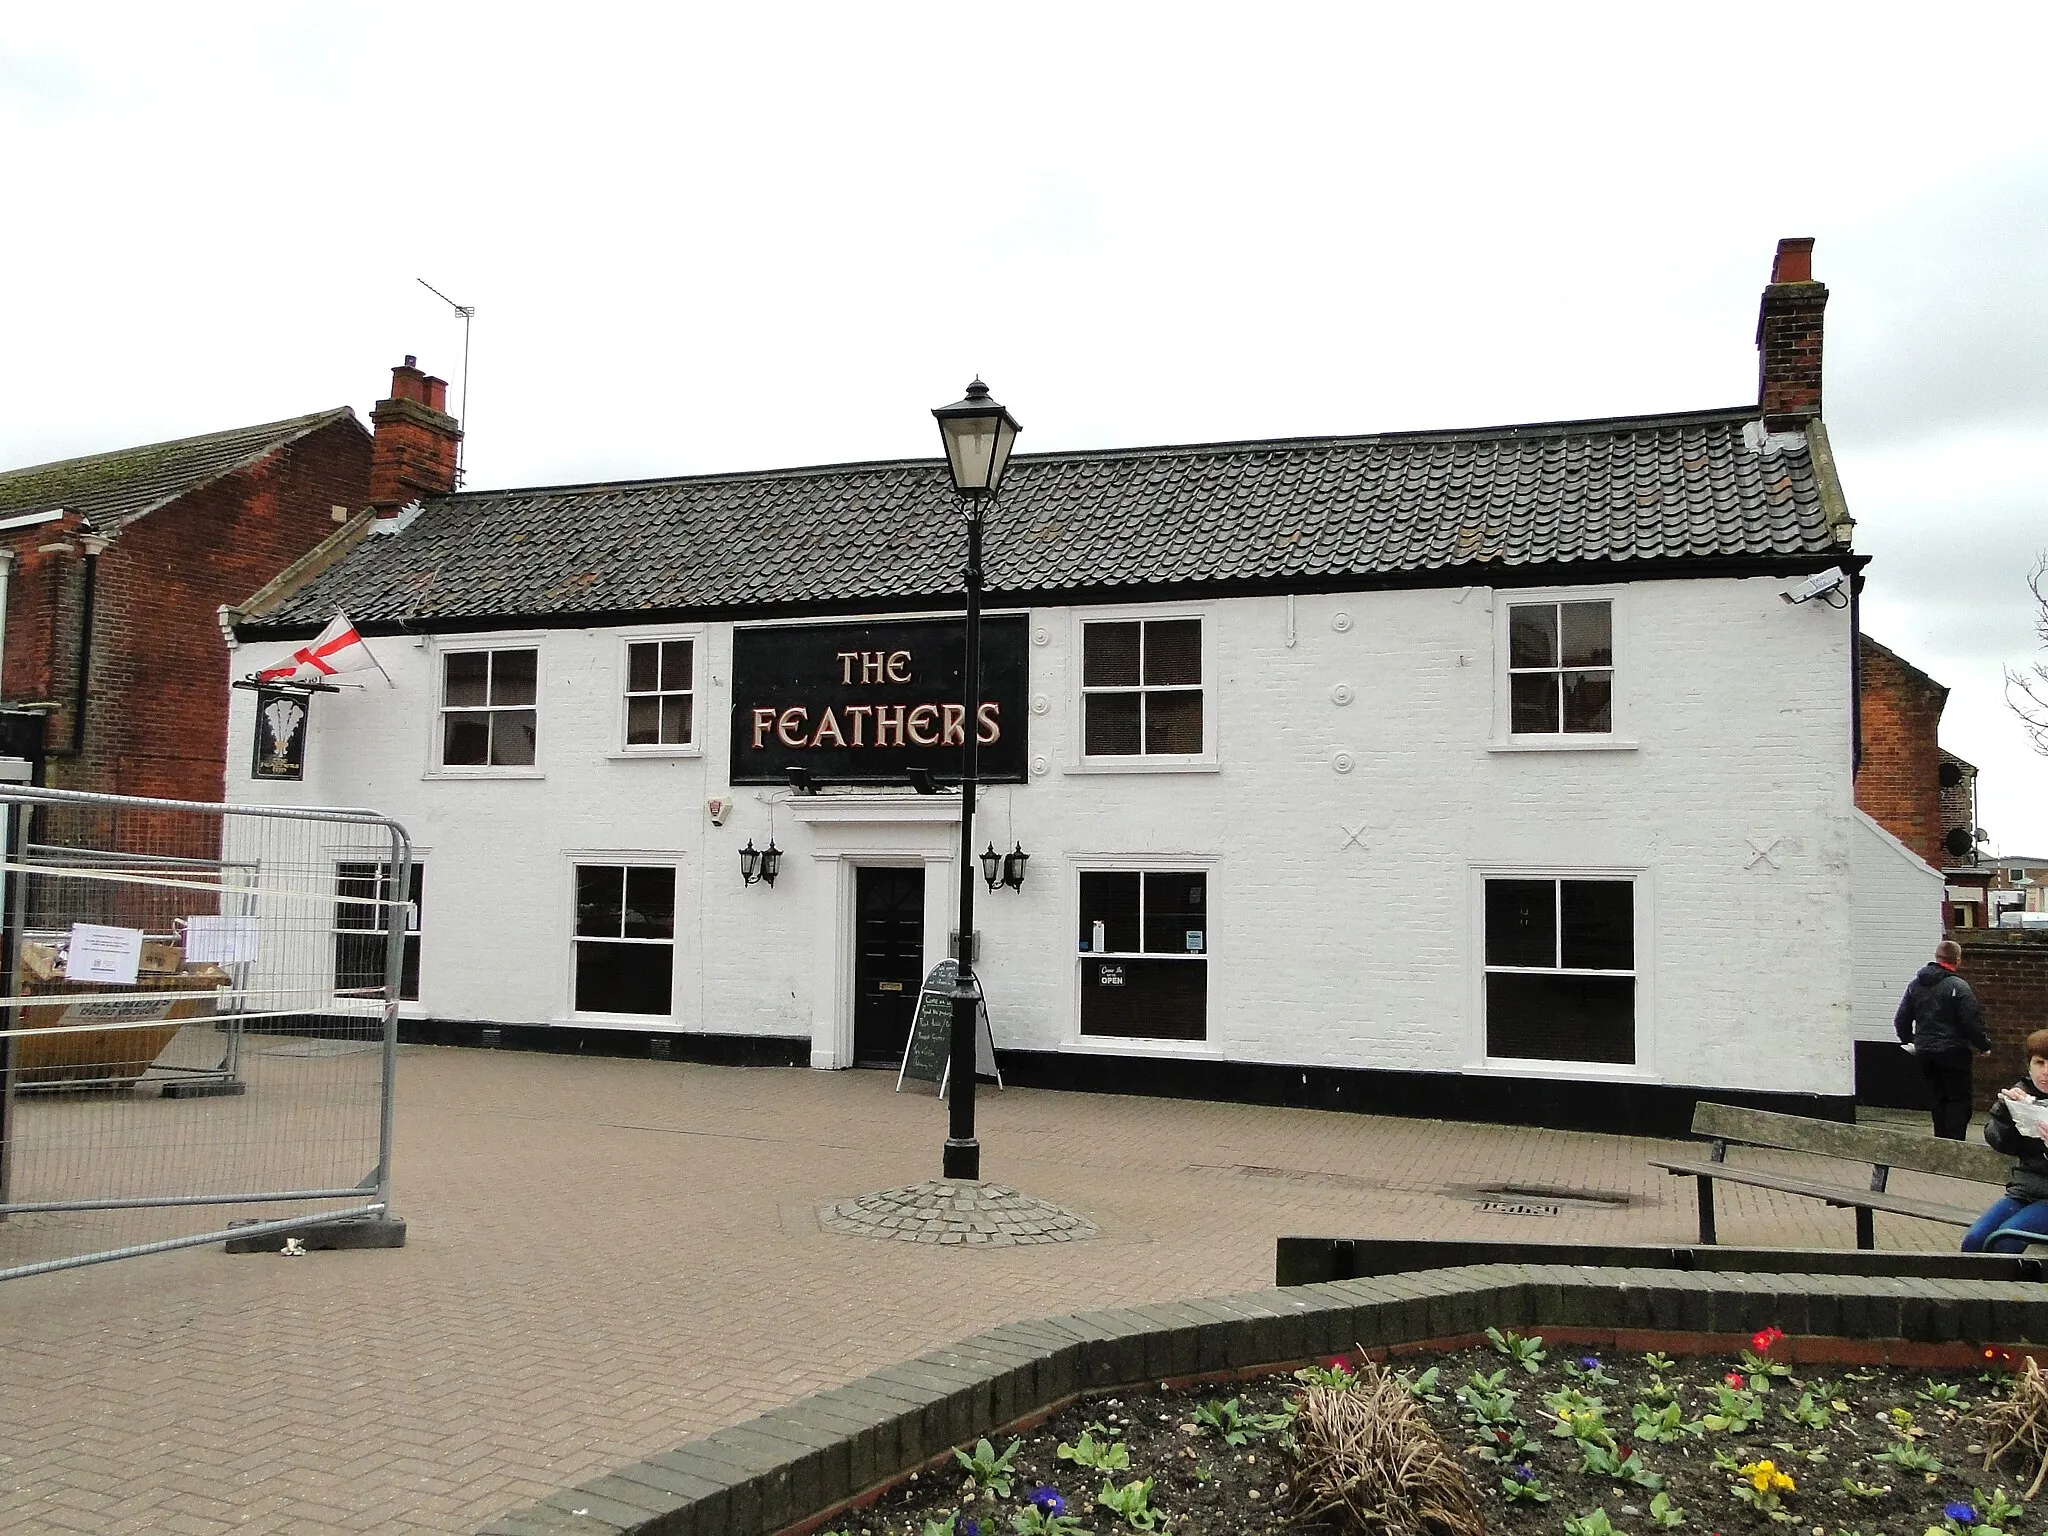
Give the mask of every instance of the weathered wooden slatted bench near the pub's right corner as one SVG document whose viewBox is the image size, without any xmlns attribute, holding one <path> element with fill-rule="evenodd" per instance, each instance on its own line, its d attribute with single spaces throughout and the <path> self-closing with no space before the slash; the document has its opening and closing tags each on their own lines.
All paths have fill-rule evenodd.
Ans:
<svg viewBox="0 0 2048 1536">
<path fill-rule="evenodd" d="M 1946 1221 L 1950 1227 L 1970 1227 L 2005 1186 L 2013 1159 L 1976 1141 L 1937 1141 L 1911 1130 L 1888 1130 L 1882 1126 L 1839 1124 L 1835 1120 L 1806 1120 L 1798 1114 L 1774 1114 L 1769 1110 L 1743 1110 L 1733 1104 L 1706 1104 L 1692 1112 L 1692 1133 L 1708 1137 L 1714 1147 L 1708 1157 L 1653 1157 L 1651 1167 L 1667 1174 L 1692 1176 L 1700 1180 L 1700 1241 L 1714 1237 L 1714 1180 L 1726 1184 L 1751 1184 L 1759 1190 L 1784 1190 L 1802 1194 L 1808 1200 L 1825 1200 L 1831 1206 L 1855 1210 L 1855 1245 L 1876 1247 L 1874 1217 L 1888 1210 L 1894 1217 L 1919 1217 L 1921 1221 Z M 1729 1145 L 1769 1147 L 1776 1151 L 1812 1153 L 1837 1157 L 1845 1163 L 1864 1163 L 1870 1169 L 1868 1184 L 1827 1184 L 1796 1174 L 1778 1174 L 1765 1167 L 1743 1167 L 1726 1161 Z M 1974 1180 L 1995 1184 L 1999 1190 L 1985 1190 L 1985 1198 L 1972 1206 L 1952 1206 L 1942 1200 L 1919 1200 L 1905 1194 L 1890 1194 L 1884 1186 L 1894 1167 L 1909 1167 L 1917 1174 L 1939 1174 L 1954 1180 Z"/>
</svg>

